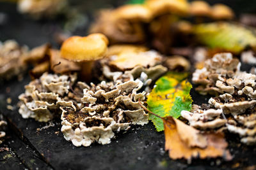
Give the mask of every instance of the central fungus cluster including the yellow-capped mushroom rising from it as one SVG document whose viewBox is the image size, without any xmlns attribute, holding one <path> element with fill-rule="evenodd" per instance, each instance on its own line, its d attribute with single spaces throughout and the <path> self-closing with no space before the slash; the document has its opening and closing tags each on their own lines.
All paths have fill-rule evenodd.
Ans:
<svg viewBox="0 0 256 170">
<path fill-rule="evenodd" d="M 107 45 L 104 35 L 91 34 L 67 39 L 61 51 L 49 49 L 51 70 L 66 74 L 44 73 L 26 85 L 19 96 L 22 117 L 39 122 L 61 118 L 61 132 L 75 146 L 104 145 L 131 124 L 147 124 L 139 100 L 145 102 L 149 85 L 168 70 L 161 65 L 164 57 L 142 46 L 113 46 L 107 52 Z M 62 65 L 54 66 L 58 59 Z M 92 83 L 92 67 L 99 59 L 100 83 Z M 84 68 L 70 74 L 75 66 Z M 90 84 L 79 81 L 83 79 Z"/>
</svg>

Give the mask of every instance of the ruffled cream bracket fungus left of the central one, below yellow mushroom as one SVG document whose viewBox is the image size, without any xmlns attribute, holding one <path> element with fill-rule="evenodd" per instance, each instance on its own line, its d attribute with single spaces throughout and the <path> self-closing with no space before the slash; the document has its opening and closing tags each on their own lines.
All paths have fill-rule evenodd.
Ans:
<svg viewBox="0 0 256 170">
<path fill-rule="evenodd" d="M 39 122 L 47 122 L 60 114 L 59 104 L 63 102 L 61 96 L 68 94 L 70 85 L 76 80 L 75 75 L 57 76 L 44 73 L 40 79 L 33 80 L 26 85 L 25 93 L 20 94 L 19 113 L 23 118 L 35 118 Z"/>
</svg>

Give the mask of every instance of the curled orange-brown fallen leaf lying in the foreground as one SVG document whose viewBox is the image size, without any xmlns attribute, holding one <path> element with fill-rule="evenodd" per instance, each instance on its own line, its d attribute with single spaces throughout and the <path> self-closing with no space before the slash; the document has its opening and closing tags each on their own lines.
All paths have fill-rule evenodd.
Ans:
<svg viewBox="0 0 256 170">
<path fill-rule="evenodd" d="M 180 131 L 181 130 L 181 131 Z M 228 143 L 222 133 L 200 133 L 178 119 L 164 119 L 165 150 L 171 159 L 216 158 L 231 160 Z M 193 144 L 193 145 L 191 145 Z"/>
</svg>

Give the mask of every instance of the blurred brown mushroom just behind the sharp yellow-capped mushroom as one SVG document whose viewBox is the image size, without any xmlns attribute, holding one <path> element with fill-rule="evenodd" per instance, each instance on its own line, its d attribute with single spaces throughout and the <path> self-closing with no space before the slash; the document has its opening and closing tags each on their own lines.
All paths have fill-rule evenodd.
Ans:
<svg viewBox="0 0 256 170">
<path fill-rule="evenodd" d="M 143 25 L 138 22 L 140 15 L 128 16 L 121 10 L 102 10 L 100 11 L 97 21 L 90 27 L 91 33 L 102 33 L 106 35 L 111 44 L 114 43 L 142 43 L 145 41 L 145 31 Z M 119 12 L 118 12 L 119 11 Z M 119 14 L 121 13 L 121 14 Z M 119 16 L 120 15 L 120 16 Z M 131 13 L 129 13 L 131 15 Z M 125 17 L 125 18 L 122 18 Z M 131 20 L 127 20 L 131 19 Z"/>
</svg>

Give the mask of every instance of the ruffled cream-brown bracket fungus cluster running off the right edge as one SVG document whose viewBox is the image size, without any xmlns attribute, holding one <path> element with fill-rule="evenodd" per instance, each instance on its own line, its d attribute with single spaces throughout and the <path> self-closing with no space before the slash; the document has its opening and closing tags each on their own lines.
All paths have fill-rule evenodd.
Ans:
<svg viewBox="0 0 256 170">
<path fill-rule="evenodd" d="M 182 111 L 182 117 L 197 129 L 218 129 L 239 134 L 246 145 L 256 143 L 255 81 L 256 75 L 240 70 L 241 63 L 231 53 L 218 53 L 196 69 L 192 81 L 201 94 L 212 94 L 209 106 L 201 110 Z"/>
</svg>

